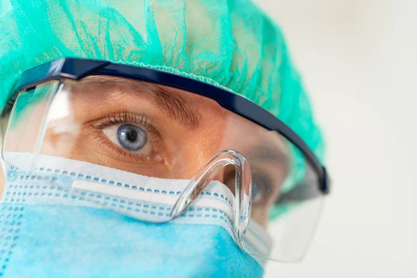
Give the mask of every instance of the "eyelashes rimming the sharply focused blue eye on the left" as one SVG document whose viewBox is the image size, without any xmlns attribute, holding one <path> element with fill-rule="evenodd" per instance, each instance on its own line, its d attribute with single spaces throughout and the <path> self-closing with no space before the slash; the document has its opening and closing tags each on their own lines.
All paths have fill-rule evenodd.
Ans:
<svg viewBox="0 0 417 278">
<path fill-rule="evenodd" d="M 99 139 L 99 145 L 106 144 L 108 147 L 117 152 L 119 156 L 123 155 L 124 157 L 129 156 L 131 161 L 136 161 L 138 163 L 141 161 L 142 163 L 147 163 L 147 157 L 140 156 L 138 154 L 133 154 L 128 152 L 115 144 L 113 142 L 108 142 L 108 139 L 103 136 L 102 130 L 106 127 L 113 126 L 115 124 L 136 124 L 140 127 L 143 127 L 149 132 L 149 134 L 156 140 L 156 142 L 161 142 L 163 138 L 161 137 L 161 129 L 157 129 L 153 123 L 153 119 L 148 117 L 147 114 L 144 112 L 142 114 L 138 113 L 130 113 L 128 111 L 124 111 L 123 113 L 109 113 L 108 115 L 101 118 L 99 124 L 90 124 L 92 128 L 97 129 L 96 133 L 97 136 L 95 139 Z"/>
</svg>

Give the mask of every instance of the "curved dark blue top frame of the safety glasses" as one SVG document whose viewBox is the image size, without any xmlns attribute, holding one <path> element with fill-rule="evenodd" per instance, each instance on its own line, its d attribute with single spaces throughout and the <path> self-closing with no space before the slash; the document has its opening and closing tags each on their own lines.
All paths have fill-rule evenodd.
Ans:
<svg viewBox="0 0 417 278">
<path fill-rule="evenodd" d="M 320 191 L 323 194 L 329 193 L 330 186 L 325 167 L 320 164 L 316 155 L 294 131 L 277 117 L 261 108 L 261 106 L 234 92 L 208 83 L 145 67 L 122 65 L 102 60 L 61 58 L 24 72 L 15 86 L 15 92 L 26 90 L 51 80 L 80 80 L 90 75 L 108 75 L 148 81 L 213 99 L 222 108 L 240 115 L 269 131 L 277 131 L 281 136 L 292 142 L 302 151 L 306 159 L 311 163 L 313 170 L 316 171 L 320 179 Z"/>
</svg>

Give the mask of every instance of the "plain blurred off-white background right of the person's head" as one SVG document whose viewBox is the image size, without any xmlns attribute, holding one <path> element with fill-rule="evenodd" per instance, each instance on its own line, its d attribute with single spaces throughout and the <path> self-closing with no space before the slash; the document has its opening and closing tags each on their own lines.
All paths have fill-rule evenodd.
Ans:
<svg viewBox="0 0 417 278">
<path fill-rule="evenodd" d="M 256 2 L 304 76 L 334 186 L 306 259 L 266 277 L 417 277 L 417 1 Z"/>
</svg>

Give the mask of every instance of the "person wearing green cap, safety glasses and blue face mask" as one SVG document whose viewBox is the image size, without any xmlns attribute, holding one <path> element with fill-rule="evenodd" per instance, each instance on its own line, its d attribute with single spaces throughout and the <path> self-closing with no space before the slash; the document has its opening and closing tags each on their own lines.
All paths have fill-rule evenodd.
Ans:
<svg viewBox="0 0 417 278">
<path fill-rule="evenodd" d="M 245 0 L 0 10 L 0 277 L 262 277 L 329 192 L 279 28 Z"/>
</svg>

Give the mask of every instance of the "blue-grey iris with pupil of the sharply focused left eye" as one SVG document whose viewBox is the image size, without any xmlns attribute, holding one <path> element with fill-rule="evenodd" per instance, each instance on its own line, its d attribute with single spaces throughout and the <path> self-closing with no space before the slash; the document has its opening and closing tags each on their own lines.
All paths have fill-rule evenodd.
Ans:
<svg viewBox="0 0 417 278">
<path fill-rule="evenodd" d="M 124 149 L 136 152 L 146 145 L 147 133 L 138 126 L 121 124 L 117 128 L 117 141 Z"/>
</svg>

